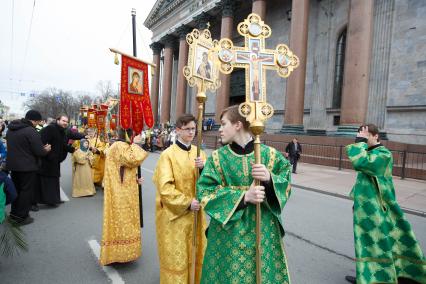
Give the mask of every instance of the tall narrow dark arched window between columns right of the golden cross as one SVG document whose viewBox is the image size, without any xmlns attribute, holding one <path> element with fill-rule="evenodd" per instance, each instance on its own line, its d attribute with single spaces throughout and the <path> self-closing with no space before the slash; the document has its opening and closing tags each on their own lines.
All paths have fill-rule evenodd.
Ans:
<svg viewBox="0 0 426 284">
<path fill-rule="evenodd" d="M 345 69 L 344 67 L 346 52 L 346 32 L 347 28 L 345 27 L 337 38 L 332 108 L 340 108 L 340 105 L 342 103 L 343 73 Z"/>
</svg>

